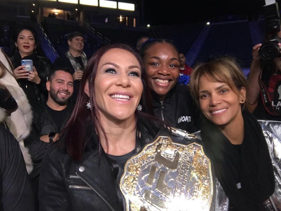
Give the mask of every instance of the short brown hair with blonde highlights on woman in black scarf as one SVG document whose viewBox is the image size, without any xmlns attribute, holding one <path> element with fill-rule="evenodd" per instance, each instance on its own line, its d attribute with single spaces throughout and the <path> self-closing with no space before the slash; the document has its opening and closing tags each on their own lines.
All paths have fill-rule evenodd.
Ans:
<svg viewBox="0 0 281 211">
<path fill-rule="evenodd" d="M 189 86 L 191 95 L 199 105 L 199 81 L 201 76 L 228 84 L 239 95 L 241 87 L 247 90 L 247 80 L 234 58 L 217 58 L 210 62 L 198 64 L 191 75 Z"/>
</svg>

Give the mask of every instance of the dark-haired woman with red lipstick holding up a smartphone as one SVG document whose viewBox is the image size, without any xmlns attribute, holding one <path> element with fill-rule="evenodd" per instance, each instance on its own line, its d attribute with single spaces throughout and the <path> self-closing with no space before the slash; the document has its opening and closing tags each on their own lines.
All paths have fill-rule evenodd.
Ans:
<svg viewBox="0 0 281 211">
<path fill-rule="evenodd" d="M 14 66 L 13 75 L 23 89 L 32 107 L 45 101 L 47 97 L 46 81 L 52 64 L 46 57 L 36 55 L 37 34 L 29 27 L 16 30 L 14 36 L 16 52 L 11 57 Z M 25 69 L 21 60 L 32 60 L 31 71 Z"/>
</svg>

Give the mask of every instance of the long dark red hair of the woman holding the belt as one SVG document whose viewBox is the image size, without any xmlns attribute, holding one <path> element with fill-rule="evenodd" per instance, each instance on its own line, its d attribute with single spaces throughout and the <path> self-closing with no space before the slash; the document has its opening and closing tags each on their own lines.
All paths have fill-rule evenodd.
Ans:
<svg viewBox="0 0 281 211">
<path fill-rule="evenodd" d="M 83 77 L 80 81 L 80 87 L 78 91 L 76 105 L 73 109 L 71 117 L 69 118 L 66 126 L 63 128 L 60 135 L 60 139 L 62 139 L 61 141 L 63 141 L 66 145 L 68 154 L 76 161 L 79 161 L 81 159 L 81 155 L 83 154 L 85 147 L 88 146 L 89 144 L 90 139 L 88 137 L 88 134 L 86 133 L 86 125 L 88 125 L 89 122 L 91 122 L 94 125 L 94 128 L 92 128 L 92 130 L 95 130 L 97 136 L 99 136 L 99 131 L 102 131 L 103 135 L 106 137 L 104 129 L 102 128 L 97 118 L 97 113 L 95 108 L 88 109 L 86 107 L 86 104 L 90 100 L 90 103 L 92 105 L 96 105 L 94 84 L 97 75 L 97 67 L 102 55 L 104 55 L 108 50 L 112 48 L 124 49 L 131 52 L 140 63 L 141 80 L 143 83 L 143 92 L 140 99 L 140 104 L 143 106 L 143 109 L 146 112 L 146 114 L 142 112 L 140 113 L 136 112 L 135 114 L 136 116 L 142 115 L 154 119 L 151 116 L 153 115 L 153 110 L 151 106 L 150 90 L 148 89 L 147 86 L 148 77 L 144 71 L 143 62 L 140 55 L 135 50 L 133 50 L 130 46 L 121 43 L 110 44 L 100 48 L 91 57 L 90 61 L 88 62 L 88 64 L 84 69 Z M 89 86 L 90 97 L 84 92 L 84 87 L 87 81 L 89 83 L 88 86 Z"/>
</svg>

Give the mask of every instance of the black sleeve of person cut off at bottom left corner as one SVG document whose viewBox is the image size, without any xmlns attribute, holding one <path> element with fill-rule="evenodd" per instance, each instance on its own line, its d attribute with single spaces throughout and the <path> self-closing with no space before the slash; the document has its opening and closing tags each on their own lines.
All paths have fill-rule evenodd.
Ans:
<svg viewBox="0 0 281 211">
<path fill-rule="evenodd" d="M 34 195 L 20 146 L 0 127 L 0 210 L 34 210 Z"/>
</svg>

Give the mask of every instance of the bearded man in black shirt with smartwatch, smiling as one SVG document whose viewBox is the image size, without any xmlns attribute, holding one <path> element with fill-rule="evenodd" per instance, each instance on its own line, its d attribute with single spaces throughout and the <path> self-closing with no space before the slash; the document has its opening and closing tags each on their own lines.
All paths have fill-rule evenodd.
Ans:
<svg viewBox="0 0 281 211">
<path fill-rule="evenodd" d="M 73 76 L 69 69 L 55 69 L 46 86 L 48 100 L 42 107 L 34 109 L 33 126 L 42 141 L 52 143 L 73 110 L 73 103 L 69 103 L 73 94 Z"/>
</svg>

